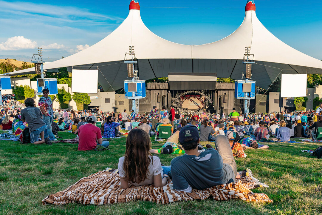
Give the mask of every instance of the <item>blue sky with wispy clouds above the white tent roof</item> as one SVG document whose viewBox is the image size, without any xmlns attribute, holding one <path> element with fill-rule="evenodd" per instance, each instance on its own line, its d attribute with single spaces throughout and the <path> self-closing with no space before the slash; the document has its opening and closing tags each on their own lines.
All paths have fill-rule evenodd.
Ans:
<svg viewBox="0 0 322 215">
<path fill-rule="evenodd" d="M 228 36 L 242 23 L 247 2 L 138 1 L 147 27 L 156 35 L 181 44 L 211 43 Z M 37 47 L 43 47 L 43 57 L 54 60 L 79 52 L 115 30 L 127 17 L 129 3 L 130 0 L 0 0 L 0 55 L 32 56 Z M 255 0 L 255 5 L 257 17 L 272 34 L 322 60 L 321 0 Z"/>
</svg>

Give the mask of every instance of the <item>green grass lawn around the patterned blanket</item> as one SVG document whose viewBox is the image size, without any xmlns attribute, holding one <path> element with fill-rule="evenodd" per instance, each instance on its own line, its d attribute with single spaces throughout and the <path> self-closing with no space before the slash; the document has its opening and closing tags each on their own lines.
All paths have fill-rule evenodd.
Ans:
<svg viewBox="0 0 322 215">
<path fill-rule="evenodd" d="M 60 132 L 60 137 L 75 135 Z M 155 142 L 159 148 L 164 142 Z M 322 160 L 301 150 L 314 150 L 321 143 L 268 143 L 267 150 L 246 150 L 246 158 L 237 158 L 237 171 L 251 169 L 254 176 L 270 188 L 253 192 L 268 194 L 273 203 L 242 200 L 179 201 L 168 205 L 133 201 L 114 205 L 46 205 L 42 200 L 62 191 L 82 177 L 117 168 L 125 153 L 126 138 L 110 142 L 109 151 L 77 151 L 77 144 L 22 145 L 0 141 L 0 214 L 321 214 Z M 202 142 L 205 145 L 205 142 Z M 159 155 L 165 165 L 175 155 Z"/>
</svg>

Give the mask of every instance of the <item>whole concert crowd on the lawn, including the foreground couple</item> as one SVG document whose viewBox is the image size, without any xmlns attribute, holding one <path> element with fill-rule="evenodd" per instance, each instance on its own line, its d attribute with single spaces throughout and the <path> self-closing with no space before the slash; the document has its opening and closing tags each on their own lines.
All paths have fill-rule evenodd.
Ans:
<svg viewBox="0 0 322 215">
<path fill-rule="evenodd" d="M 34 144 L 51 144 L 57 141 L 58 131 L 69 130 L 78 135 L 78 150 L 107 149 L 104 138 L 120 136 L 124 129 L 128 134 L 125 156 L 119 158 L 118 170 L 122 188 L 154 184 L 164 186 L 171 178 L 173 188 L 191 192 L 215 185 L 226 184 L 240 178 L 235 157 L 244 158 L 247 149 L 267 149 L 259 142 L 289 142 L 290 138 L 312 137 L 322 127 L 322 103 L 317 111 L 253 113 L 247 116 L 232 110 L 224 114 L 179 113 L 171 106 L 158 111 L 136 114 L 128 112 L 102 112 L 98 109 L 75 112 L 54 110 L 49 91 L 43 89 L 38 107 L 33 98 L 27 98 L 25 108 L 6 105 L 1 108 L 2 129 L 13 130 L 21 135 L 29 128 L 30 141 Z M 150 137 L 159 127 L 171 127 L 171 136 L 159 149 L 152 149 Z M 201 142 L 214 142 L 202 145 Z M 159 157 L 152 154 L 182 154 L 162 165 Z"/>
</svg>

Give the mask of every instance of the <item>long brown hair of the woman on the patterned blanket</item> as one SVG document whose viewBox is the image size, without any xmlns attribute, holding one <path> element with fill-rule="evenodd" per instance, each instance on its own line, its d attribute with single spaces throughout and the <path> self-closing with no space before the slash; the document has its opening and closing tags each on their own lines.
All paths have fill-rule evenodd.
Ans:
<svg viewBox="0 0 322 215">
<path fill-rule="evenodd" d="M 147 132 L 132 129 L 126 139 L 125 159 L 123 162 L 124 179 L 141 183 L 147 179 L 151 162 L 151 141 Z"/>
</svg>

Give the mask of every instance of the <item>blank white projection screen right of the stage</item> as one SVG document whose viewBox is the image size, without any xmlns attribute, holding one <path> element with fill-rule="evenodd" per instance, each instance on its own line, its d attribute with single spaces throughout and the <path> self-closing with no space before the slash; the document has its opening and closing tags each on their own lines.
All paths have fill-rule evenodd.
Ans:
<svg viewBox="0 0 322 215">
<path fill-rule="evenodd" d="M 281 97 L 306 97 L 307 74 L 282 74 Z"/>
</svg>

